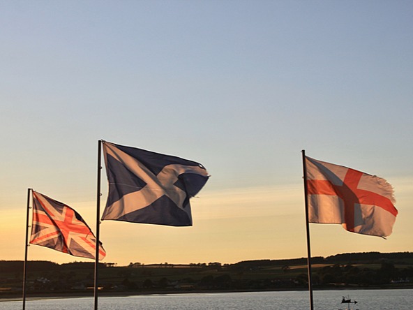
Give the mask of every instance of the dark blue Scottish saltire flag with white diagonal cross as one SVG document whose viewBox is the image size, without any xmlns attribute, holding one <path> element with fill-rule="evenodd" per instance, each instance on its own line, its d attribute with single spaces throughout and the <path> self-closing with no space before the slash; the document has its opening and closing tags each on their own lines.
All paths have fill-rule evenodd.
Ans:
<svg viewBox="0 0 413 310">
<path fill-rule="evenodd" d="M 189 198 L 207 183 L 200 163 L 103 142 L 109 195 L 103 220 L 192 226 Z"/>
</svg>

